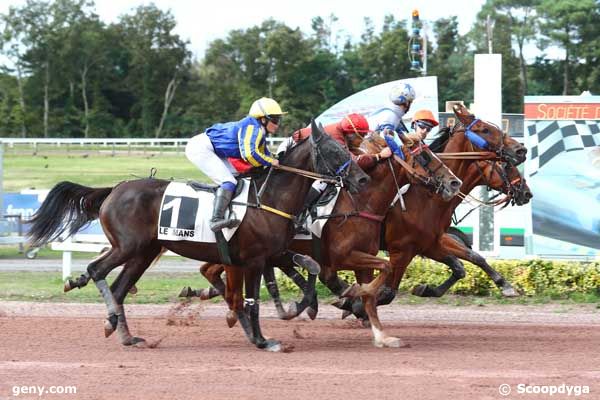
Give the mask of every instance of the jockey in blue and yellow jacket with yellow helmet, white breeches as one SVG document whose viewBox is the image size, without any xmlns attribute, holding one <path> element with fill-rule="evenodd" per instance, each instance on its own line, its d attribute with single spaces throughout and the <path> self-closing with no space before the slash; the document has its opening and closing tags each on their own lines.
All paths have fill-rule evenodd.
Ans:
<svg viewBox="0 0 600 400">
<path fill-rule="evenodd" d="M 186 157 L 219 185 L 210 220 L 213 232 L 234 228 L 241 222 L 224 218 L 237 185 L 233 176 L 236 171 L 227 158 L 243 159 L 255 167 L 278 166 L 279 161 L 271 156 L 266 146 L 266 136 L 277 131 L 283 114 L 286 113 L 275 100 L 262 97 L 252 103 L 244 119 L 215 124 L 188 142 Z"/>
</svg>

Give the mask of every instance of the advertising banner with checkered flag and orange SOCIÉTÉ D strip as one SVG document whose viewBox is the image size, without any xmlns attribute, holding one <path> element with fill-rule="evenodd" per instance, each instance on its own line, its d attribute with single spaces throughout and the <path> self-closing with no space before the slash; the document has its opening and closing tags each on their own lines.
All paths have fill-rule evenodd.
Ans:
<svg viewBox="0 0 600 400">
<path fill-rule="evenodd" d="M 600 96 L 525 97 L 533 250 L 600 256 Z"/>
</svg>

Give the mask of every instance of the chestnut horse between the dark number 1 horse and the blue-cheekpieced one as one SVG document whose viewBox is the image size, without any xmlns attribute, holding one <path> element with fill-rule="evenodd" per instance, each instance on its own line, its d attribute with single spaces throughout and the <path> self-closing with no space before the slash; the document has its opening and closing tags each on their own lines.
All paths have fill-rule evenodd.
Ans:
<svg viewBox="0 0 600 400">
<path fill-rule="evenodd" d="M 403 136 L 401 136 L 401 139 L 406 140 Z M 405 141 L 405 144 L 408 143 Z M 364 152 L 375 154 L 380 152 L 382 147 L 386 145 L 382 137 L 373 134 L 363 140 L 361 149 Z M 387 162 L 377 164 L 375 168 L 369 171 L 371 177 L 369 187 L 359 195 L 352 196 L 344 190 L 340 192 L 332 214 L 327 216 L 330 221 L 324 226 L 321 236 L 323 243 L 322 259 L 318 261 L 321 264 L 321 273 L 325 272 L 327 274 L 325 277 L 320 276 L 322 280 L 329 279 L 329 276 L 335 276 L 335 272 L 342 269 L 379 270 L 378 278 L 369 284 L 339 286 L 336 290 L 340 296 L 362 298 L 362 301 L 366 304 L 366 313 L 371 321 L 373 342 L 377 347 L 400 347 L 402 345 L 399 338 L 385 333 L 375 307 L 377 295 L 390 272 L 389 262 L 376 256 L 379 249 L 381 223 L 387 210 L 397 196 L 400 187 L 408 181 L 426 187 L 426 190 L 437 193 L 445 201 L 452 199 L 458 193 L 461 185 L 460 180 L 456 179 L 448 168 L 426 147 L 419 144 L 409 150 L 407 146 L 404 146 L 404 150 L 407 162 L 402 162 L 395 156 Z M 294 252 L 314 255 L 310 240 L 294 240 L 290 249 Z M 293 263 L 289 259 L 289 254 L 272 257 L 268 261 L 269 265 L 280 267 L 286 273 L 293 271 Z M 201 272 L 213 283 L 213 286 L 216 284 L 222 287 L 223 284 L 218 281 L 220 281 L 220 274 L 223 269 L 226 271 L 229 283 L 230 271 L 227 266 L 205 265 L 202 267 Z M 268 266 L 265 268 L 265 273 L 270 274 L 265 275 L 269 291 L 276 289 L 272 271 L 273 269 Z M 309 275 L 309 280 L 311 277 Z M 306 299 L 306 289 L 314 285 L 314 281 L 302 282 L 300 285 L 305 292 Z M 210 297 L 209 292 L 204 293 L 206 297 Z M 212 294 L 217 294 L 217 291 Z M 284 312 L 281 302 L 277 302 L 277 294 L 273 292 L 271 294 L 276 300 L 280 316 L 283 314 L 284 319 L 292 318 L 303 311 L 301 306 L 296 306 L 290 311 Z M 227 297 L 226 299 L 232 307 L 231 299 Z M 312 306 L 316 313 L 315 302 L 306 304 L 303 300 L 303 305 Z M 313 318 L 312 315 L 309 314 L 311 318 Z"/>
</svg>

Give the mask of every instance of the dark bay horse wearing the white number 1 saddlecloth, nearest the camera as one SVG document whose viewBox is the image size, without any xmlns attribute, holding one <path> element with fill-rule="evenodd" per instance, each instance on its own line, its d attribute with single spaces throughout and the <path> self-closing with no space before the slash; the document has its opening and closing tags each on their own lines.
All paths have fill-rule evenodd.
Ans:
<svg viewBox="0 0 600 400">
<path fill-rule="evenodd" d="M 286 152 L 280 169 L 258 179 L 264 184 L 262 197 L 252 193 L 249 203 L 265 207 L 249 207 L 246 217 L 229 242 L 231 259 L 237 270 L 245 272 L 247 307 L 238 310 L 238 318 L 248 339 L 258 348 L 280 351 L 277 340 L 266 340 L 258 321 L 258 298 L 262 268 L 267 258 L 284 252 L 293 238 L 293 215 L 303 207 L 312 180 L 306 175 L 319 174 L 339 181 L 349 191 L 358 193 L 370 178 L 351 161 L 349 154 L 312 122 L 313 135 Z M 306 168 L 309 172 L 288 172 Z M 302 171 L 300 171 L 302 172 Z M 163 251 L 208 262 L 221 262 L 215 243 L 158 240 L 159 208 L 169 181 L 139 179 L 125 181 L 113 188 L 89 188 L 71 182 L 57 184 L 48 194 L 31 220 L 30 243 L 40 246 L 58 238 L 63 232 L 77 232 L 99 218 L 112 247 L 92 261 L 87 272 L 75 281 L 65 283 L 65 291 L 85 286 L 90 279 L 100 291 L 108 310 L 105 335 L 115 330 L 121 344 L 142 344 L 128 329 L 123 301 L 128 291 L 150 264 Z M 268 205 L 268 207 L 266 207 Z M 278 211 L 268 211 L 275 210 Z M 283 214 L 288 217 L 282 216 Z M 119 265 L 123 269 L 108 286 L 107 274 Z"/>
</svg>

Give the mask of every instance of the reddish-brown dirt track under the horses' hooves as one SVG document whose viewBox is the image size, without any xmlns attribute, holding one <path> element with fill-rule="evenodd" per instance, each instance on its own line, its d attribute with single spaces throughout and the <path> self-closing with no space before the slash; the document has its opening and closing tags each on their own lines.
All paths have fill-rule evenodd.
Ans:
<svg viewBox="0 0 600 400">
<path fill-rule="evenodd" d="M 77 387 L 19 399 L 567 398 L 519 395 L 519 383 L 588 385 L 578 398 L 600 398 L 600 313 L 592 307 L 389 307 L 382 319 L 411 345 L 402 349 L 374 348 L 370 330 L 333 319 L 328 306 L 316 321 L 291 322 L 268 318 L 265 307 L 263 331 L 295 347 L 286 354 L 251 347 L 241 328 L 227 328 L 222 305 L 177 315 L 169 306 L 130 309 L 132 332 L 162 338 L 158 347 L 105 339 L 101 305 L 0 303 L 0 399 L 17 385 Z M 411 314 L 416 322 L 406 322 Z M 503 383 L 513 388 L 508 397 L 498 393 Z"/>
</svg>

